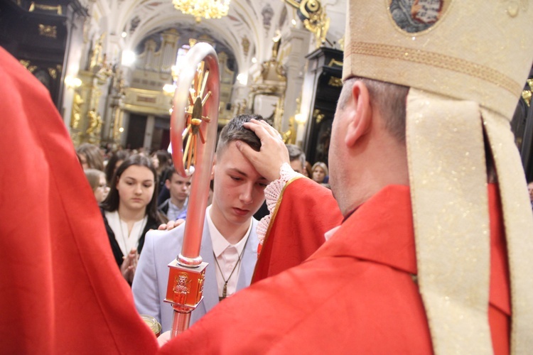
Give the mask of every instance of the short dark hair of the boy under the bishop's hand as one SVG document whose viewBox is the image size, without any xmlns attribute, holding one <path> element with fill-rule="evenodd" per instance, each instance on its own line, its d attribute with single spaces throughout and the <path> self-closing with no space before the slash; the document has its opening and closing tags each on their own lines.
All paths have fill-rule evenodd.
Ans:
<svg viewBox="0 0 533 355">
<path fill-rule="evenodd" d="M 230 123 L 222 129 L 217 143 L 217 156 L 219 156 L 225 150 L 228 143 L 231 143 L 232 141 L 242 141 L 251 146 L 254 151 L 259 151 L 261 148 L 261 141 L 253 131 L 245 129 L 243 126 L 245 122 L 249 122 L 251 119 L 264 121 L 263 117 L 257 114 L 241 114 L 235 116 Z"/>
</svg>

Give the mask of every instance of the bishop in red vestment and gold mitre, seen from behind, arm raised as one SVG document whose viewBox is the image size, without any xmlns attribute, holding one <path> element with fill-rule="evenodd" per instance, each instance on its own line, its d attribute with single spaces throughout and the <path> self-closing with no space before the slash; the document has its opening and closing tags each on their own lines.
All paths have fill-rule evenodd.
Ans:
<svg viewBox="0 0 533 355">
<path fill-rule="evenodd" d="M 329 151 L 338 208 L 289 168 L 274 129 L 247 124 L 262 148 L 239 149 L 271 181 L 254 283 L 161 354 L 532 349 L 533 220 L 507 134 L 519 92 L 504 78 L 523 82 L 533 58 L 506 31 L 533 23 L 486 1 L 443 2 L 431 31 L 412 33 L 379 1 L 348 3 Z M 461 31 L 472 21 L 487 31 Z"/>
</svg>

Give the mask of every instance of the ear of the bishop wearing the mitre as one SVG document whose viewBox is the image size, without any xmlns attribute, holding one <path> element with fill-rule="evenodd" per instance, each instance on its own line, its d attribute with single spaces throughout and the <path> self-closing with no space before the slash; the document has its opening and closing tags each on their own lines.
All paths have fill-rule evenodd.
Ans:
<svg viewBox="0 0 533 355">
<path fill-rule="evenodd" d="M 353 146 L 362 136 L 370 131 L 372 126 L 372 105 L 370 94 L 364 82 L 357 80 L 351 89 L 352 95 L 346 108 L 348 114 L 348 126 L 345 143 Z"/>
</svg>

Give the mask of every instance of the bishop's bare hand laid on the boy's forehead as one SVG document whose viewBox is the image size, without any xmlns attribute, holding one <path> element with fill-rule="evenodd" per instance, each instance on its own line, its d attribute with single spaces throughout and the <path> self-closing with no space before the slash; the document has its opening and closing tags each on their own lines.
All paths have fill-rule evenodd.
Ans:
<svg viewBox="0 0 533 355">
<path fill-rule="evenodd" d="M 246 143 L 237 141 L 239 151 L 266 180 L 272 182 L 279 179 L 281 165 L 289 163 L 289 151 L 279 132 L 265 121 L 256 119 L 245 123 L 244 127 L 254 131 L 261 140 L 261 149 L 257 152 Z"/>
</svg>

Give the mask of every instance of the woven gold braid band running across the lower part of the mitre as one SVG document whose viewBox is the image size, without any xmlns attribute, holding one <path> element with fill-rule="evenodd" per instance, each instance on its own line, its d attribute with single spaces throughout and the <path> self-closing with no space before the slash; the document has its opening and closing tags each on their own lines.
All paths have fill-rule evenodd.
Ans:
<svg viewBox="0 0 533 355">
<path fill-rule="evenodd" d="M 441 53 L 426 52 L 421 49 L 404 48 L 397 45 L 354 42 L 346 50 L 345 58 L 352 54 L 373 55 L 375 57 L 405 60 L 407 62 L 418 62 L 433 67 L 461 72 L 491 82 L 506 89 L 513 95 L 516 95 L 522 89 L 521 84 L 518 84 L 515 80 L 512 80 L 497 70 Z"/>
</svg>

